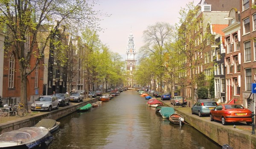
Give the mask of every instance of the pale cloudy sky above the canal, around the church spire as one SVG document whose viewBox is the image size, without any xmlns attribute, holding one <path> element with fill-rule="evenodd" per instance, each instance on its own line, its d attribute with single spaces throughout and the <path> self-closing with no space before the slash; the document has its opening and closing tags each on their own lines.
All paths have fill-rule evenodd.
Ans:
<svg viewBox="0 0 256 149">
<path fill-rule="evenodd" d="M 125 60 L 128 36 L 132 31 L 136 52 L 143 43 L 143 31 L 157 22 L 178 23 L 179 11 L 192 0 L 98 0 L 95 10 L 111 14 L 100 21 L 99 39 Z M 194 5 L 200 0 L 194 0 Z"/>
</svg>

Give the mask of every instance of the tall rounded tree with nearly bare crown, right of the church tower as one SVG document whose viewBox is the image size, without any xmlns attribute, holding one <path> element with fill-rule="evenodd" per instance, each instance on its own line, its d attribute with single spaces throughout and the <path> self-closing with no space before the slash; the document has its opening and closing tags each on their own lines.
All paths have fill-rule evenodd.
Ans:
<svg viewBox="0 0 256 149">
<path fill-rule="evenodd" d="M 141 47 L 140 52 L 143 57 L 154 58 L 154 67 L 157 68 L 156 76 L 160 86 L 163 85 L 163 75 L 165 72 L 165 63 L 163 56 L 167 53 L 165 44 L 172 38 L 173 27 L 168 23 L 157 22 L 152 26 L 148 26 L 143 31 L 145 45 Z M 162 92 L 162 88 L 160 88 Z"/>
</svg>

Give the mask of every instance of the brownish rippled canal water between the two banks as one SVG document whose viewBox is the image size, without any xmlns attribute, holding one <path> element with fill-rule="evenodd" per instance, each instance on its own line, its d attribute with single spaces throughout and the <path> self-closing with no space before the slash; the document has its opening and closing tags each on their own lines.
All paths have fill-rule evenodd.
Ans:
<svg viewBox="0 0 256 149">
<path fill-rule="evenodd" d="M 74 112 L 53 132 L 49 149 L 221 149 L 201 132 L 163 119 L 136 91 L 88 112 Z"/>
</svg>

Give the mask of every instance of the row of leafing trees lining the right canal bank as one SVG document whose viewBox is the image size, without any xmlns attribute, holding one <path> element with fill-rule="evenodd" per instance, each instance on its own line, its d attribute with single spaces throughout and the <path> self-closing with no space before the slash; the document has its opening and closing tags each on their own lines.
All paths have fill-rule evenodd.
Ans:
<svg viewBox="0 0 256 149">
<path fill-rule="evenodd" d="M 195 87 L 205 86 L 204 70 L 214 64 L 204 62 L 204 53 L 214 44 L 214 36 L 207 30 L 209 24 L 204 16 L 198 17 L 199 12 L 200 7 L 191 2 L 180 10 L 175 26 L 163 22 L 148 26 L 143 32 L 145 45 L 140 49 L 143 56 L 137 66 L 138 83 L 157 81 L 160 92 L 163 84 L 168 84 L 172 95 L 174 86 L 190 87 L 194 102 Z"/>
</svg>

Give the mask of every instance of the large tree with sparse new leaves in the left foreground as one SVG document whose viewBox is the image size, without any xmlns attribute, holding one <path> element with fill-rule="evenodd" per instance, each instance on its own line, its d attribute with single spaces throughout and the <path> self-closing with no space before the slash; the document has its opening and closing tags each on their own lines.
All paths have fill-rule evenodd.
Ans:
<svg viewBox="0 0 256 149">
<path fill-rule="evenodd" d="M 97 26 L 97 11 L 93 11 L 93 5 L 86 0 L 0 0 L 0 26 L 7 26 L 6 32 L 9 35 L 9 47 L 6 50 L 13 50 L 19 63 L 20 72 L 20 100 L 27 105 L 27 86 L 26 78 L 38 66 L 39 61 L 44 55 L 49 38 L 41 41 L 44 46 L 37 48 L 37 36 L 44 25 L 54 24 L 55 20 L 59 23 L 70 26 Z M 78 28 L 74 28 L 78 29 Z M 52 30 L 53 31 L 53 30 Z M 30 45 L 26 50 L 26 42 L 30 37 Z M 37 52 L 32 52 L 37 49 Z M 37 57 L 35 66 L 30 68 L 31 57 Z M 29 71 L 28 71 L 29 70 Z"/>
</svg>

